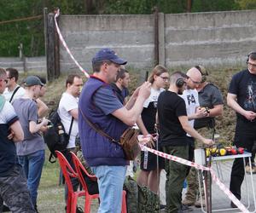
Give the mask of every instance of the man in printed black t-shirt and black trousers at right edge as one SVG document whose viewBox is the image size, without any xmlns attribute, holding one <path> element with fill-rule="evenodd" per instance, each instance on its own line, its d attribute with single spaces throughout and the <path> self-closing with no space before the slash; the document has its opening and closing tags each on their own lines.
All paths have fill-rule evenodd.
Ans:
<svg viewBox="0 0 256 213">
<path fill-rule="evenodd" d="M 227 104 L 236 111 L 234 145 L 253 151 L 256 141 L 256 52 L 248 55 L 247 69 L 236 73 L 230 82 Z M 252 158 L 254 160 L 255 155 Z M 253 164 L 253 170 L 255 165 Z M 231 171 L 230 191 L 241 199 L 241 183 L 244 178 L 242 158 L 236 158 Z M 236 207 L 231 203 L 231 207 Z"/>
</svg>

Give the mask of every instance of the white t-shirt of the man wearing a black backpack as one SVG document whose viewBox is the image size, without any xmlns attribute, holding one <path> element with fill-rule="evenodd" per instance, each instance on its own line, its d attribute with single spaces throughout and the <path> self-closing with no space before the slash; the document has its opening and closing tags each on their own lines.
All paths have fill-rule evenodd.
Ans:
<svg viewBox="0 0 256 213">
<path fill-rule="evenodd" d="M 74 97 L 73 95 L 64 92 L 61 96 L 61 101 L 58 108 L 58 113 L 61 118 L 61 123 L 63 124 L 66 133 L 68 134 L 72 115 L 69 113 L 73 109 L 79 108 L 79 98 Z M 75 138 L 79 133 L 79 124 L 76 119 L 73 120 L 73 126 L 69 138 L 69 143 L 67 144 L 67 148 L 75 147 Z"/>
</svg>

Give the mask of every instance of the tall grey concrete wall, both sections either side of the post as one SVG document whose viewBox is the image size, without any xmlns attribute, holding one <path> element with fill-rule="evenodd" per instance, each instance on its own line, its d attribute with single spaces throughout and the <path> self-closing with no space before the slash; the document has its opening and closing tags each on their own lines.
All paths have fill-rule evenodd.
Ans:
<svg viewBox="0 0 256 213">
<path fill-rule="evenodd" d="M 167 67 L 241 66 L 256 50 L 256 10 L 159 14 L 160 64 Z M 154 15 L 61 15 L 60 28 L 74 57 L 91 69 L 98 49 L 109 47 L 137 68 L 154 65 Z M 61 72 L 78 68 L 60 44 Z"/>
</svg>

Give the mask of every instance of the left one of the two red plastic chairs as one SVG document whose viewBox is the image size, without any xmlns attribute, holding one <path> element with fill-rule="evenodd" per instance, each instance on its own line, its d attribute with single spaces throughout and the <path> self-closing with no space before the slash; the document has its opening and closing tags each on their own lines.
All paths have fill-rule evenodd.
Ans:
<svg viewBox="0 0 256 213">
<path fill-rule="evenodd" d="M 78 177 L 78 174 L 72 169 L 71 165 L 67 162 L 67 159 L 61 152 L 55 151 L 55 153 L 59 160 L 59 164 L 67 184 L 67 213 L 75 213 L 77 209 L 78 198 L 84 196 L 85 192 L 84 190 L 77 192 L 73 191 L 71 177 Z"/>
</svg>

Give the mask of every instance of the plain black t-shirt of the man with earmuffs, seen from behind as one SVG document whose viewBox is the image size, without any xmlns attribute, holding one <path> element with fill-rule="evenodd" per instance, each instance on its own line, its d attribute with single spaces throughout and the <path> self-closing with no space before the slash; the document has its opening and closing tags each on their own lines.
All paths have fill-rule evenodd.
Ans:
<svg viewBox="0 0 256 213">
<path fill-rule="evenodd" d="M 186 132 L 178 120 L 180 116 L 187 116 L 183 98 L 174 92 L 164 91 L 159 96 L 157 110 L 161 147 L 187 145 Z"/>
</svg>

